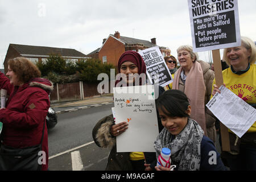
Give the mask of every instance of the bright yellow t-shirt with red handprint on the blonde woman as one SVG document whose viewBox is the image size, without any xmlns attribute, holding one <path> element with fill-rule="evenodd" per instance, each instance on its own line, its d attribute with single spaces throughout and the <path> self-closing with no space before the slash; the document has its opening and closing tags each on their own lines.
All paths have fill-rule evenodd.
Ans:
<svg viewBox="0 0 256 182">
<path fill-rule="evenodd" d="M 233 73 L 230 68 L 222 71 L 222 75 L 226 88 L 242 98 L 247 104 L 256 104 L 256 64 L 251 64 L 250 69 L 242 75 Z M 215 83 L 214 78 L 213 84 Z M 229 132 L 231 131 L 229 130 Z M 247 132 L 256 132 L 256 121 Z"/>
</svg>

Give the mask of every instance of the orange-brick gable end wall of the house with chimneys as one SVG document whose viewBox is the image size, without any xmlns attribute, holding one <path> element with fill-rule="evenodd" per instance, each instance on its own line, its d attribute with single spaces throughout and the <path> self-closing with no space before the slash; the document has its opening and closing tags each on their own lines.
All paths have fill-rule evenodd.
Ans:
<svg viewBox="0 0 256 182">
<path fill-rule="evenodd" d="M 125 45 L 110 36 L 98 53 L 98 57 L 102 61 L 102 56 L 107 56 L 107 63 L 117 65 L 123 52 L 125 52 Z"/>
</svg>

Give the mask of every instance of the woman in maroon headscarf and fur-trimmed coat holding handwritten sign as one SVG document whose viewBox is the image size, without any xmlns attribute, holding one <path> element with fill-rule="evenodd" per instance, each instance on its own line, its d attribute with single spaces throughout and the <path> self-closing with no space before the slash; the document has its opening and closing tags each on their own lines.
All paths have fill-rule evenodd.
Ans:
<svg viewBox="0 0 256 182">
<path fill-rule="evenodd" d="M 129 86 L 136 85 L 137 78 L 139 75 L 144 73 L 145 79 L 139 80 L 139 85 L 146 84 L 146 65 L 142 59 L 142 56 L 135 51 L 126 51 L 121 55 L 118 61 L 118 72 L 121 73 L 122 78 L 115 82 L 115 86 Z M 137 73 L 137 74 L 136 74 Z M 160 88 L 159 94 L 164 90 Z M 158 122 L 161 123 L 158 115 Z M 160 124 L 159 127 L 162 127 Z M 115 137 L 122 134 L 128 129 L 127 122 L 121 122 L 118 124 L 114 123 L 113 114 L 98 121 L 96 126 L 93 128 L 93 139 L 99 147 L 112 148 L 106 170 L 135 170 L 141 171 L 144 167 L 144 154 L 143 152 L 118 152 Z M 159 128 L 161 131 L 162 128 Z M 152 141 L 154 142 L 154 141 Z M 155 154 L 154 154 L 155 158 Z"/>
</svg>

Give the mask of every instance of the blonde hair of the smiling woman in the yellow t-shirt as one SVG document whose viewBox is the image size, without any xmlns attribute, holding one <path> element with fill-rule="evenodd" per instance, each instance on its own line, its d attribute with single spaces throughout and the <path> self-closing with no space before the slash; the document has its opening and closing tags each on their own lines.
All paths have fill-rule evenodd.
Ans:
<svg viewBox="0 0 256 182">
<path fill-rule="evenodd" d="M 251 51 L 251 56 L 248 57 L 248 61 L 249 61 L 249 63 L 254 64 L 255 60 L 256 60 L 256 46 L 255 46 L 253 40 L 251 40 L 250 38 L 247 38 L 246 36 L 241 36 L 241 46 L 245 47 L 248 51 L 249 50 Z M 230 67 L 229 59 L 226 56 L 227 50 L 228 50 L 228 48 L 224 49 L 222 59 L 224 61 L 226 61 L 226 64 L 228 64 Z"/>
</svg>

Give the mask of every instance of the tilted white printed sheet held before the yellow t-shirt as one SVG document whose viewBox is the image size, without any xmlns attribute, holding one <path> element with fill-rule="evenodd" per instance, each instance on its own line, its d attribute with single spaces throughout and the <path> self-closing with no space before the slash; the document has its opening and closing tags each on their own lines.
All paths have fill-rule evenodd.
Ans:
<svg viewBox="0 0 256 182">
<path fill-rule="evenodd" d="M 207 107 L 238 137 L 242 137 L 256 121 L 256 109 L 247 104 L 228 88 L 221 85 L 221 94 L 216 93 Z"/>
</svg>

